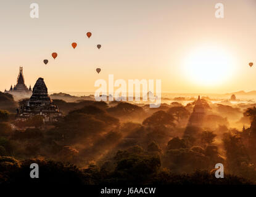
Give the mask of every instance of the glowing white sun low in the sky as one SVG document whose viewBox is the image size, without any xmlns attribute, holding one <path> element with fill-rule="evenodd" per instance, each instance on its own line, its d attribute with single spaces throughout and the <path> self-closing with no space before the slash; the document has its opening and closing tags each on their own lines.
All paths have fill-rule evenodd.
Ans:
<svg viewBox="0 0 256 197">
<path fill-rule="evenodd" d="M 214 86 L 228 80 L 232 64 L 231 55 L 221 47 L 203 46 L 189 53 L 184 68 L 189 81 Z"/>
</svg>

